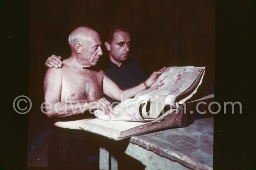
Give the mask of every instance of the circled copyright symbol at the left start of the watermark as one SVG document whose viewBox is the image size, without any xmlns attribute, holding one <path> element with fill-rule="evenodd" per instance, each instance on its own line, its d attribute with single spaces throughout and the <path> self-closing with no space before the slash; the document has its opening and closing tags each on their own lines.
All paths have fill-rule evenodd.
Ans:
<svg viewBox="0 0 256 170">
<path fill-rule="evenodd" d="M 18 101 L 16 102 L 16 100 L 18 100 Z M 24 101 L 26 104 L 29 103 L 29 108 L 27 106 L 23 109 L 20 108 L 21 101 Z M 19 114 L 22 114 L 22 115 L 26 114 L 28 111 L 30 111 L 31 107 L 32 107 L 32 102 L 31 102 L 30 98 L 28 98 L 27 96 L 21 95 L 13 100 L 13 109 Z"/>
</svg>

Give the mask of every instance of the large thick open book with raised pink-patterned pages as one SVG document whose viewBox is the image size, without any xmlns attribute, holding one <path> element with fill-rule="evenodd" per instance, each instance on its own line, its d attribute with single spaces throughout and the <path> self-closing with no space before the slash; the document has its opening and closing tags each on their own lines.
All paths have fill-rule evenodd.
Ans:
<svg viewBox="0 0 256 170">
<path fill-rule="evenodd" d="M 80 128 L 121 140 L 162 128 L 184 127 L 187 114 L 183 104 L 202 84 L 204 72 L 205 67 L 168 67 L 149 89 L 116 105 L 115 114 L 96 110 L 97 118 L 83 122 Z"/>
</svg>

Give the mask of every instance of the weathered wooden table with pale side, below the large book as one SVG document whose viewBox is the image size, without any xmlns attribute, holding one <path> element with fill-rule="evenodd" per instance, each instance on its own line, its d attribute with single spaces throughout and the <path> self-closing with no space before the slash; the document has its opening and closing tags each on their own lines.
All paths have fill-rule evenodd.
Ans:
<svg viewBox="0 0 256 170">
<path fill-rule="evenodd" d="M 135 136 L 129 141 L 125 153 L 146 165 L 145 170 L 213 169 L 213 117 L 194 116 L 185 128 Z"/>
</svg>

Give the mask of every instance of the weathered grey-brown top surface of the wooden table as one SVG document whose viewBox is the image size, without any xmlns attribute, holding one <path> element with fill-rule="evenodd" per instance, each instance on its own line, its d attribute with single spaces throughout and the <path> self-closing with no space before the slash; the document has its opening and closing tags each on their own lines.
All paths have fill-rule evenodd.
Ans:
<svg viewBox="0 0 256 170">
<path fill-rule="evenodd" d="M 191 169 L 213 169 L 213 117 L 194 119 L 185 128 L 131 137 L 130 142 Z"/>
</svg>

